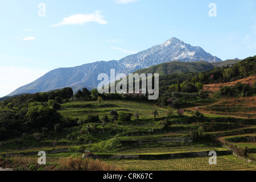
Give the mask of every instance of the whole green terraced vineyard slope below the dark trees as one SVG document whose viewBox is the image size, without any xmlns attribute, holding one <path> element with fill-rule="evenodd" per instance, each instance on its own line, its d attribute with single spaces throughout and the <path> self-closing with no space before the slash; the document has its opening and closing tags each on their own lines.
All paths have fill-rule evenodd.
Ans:
<svg viewBox="0 0 256 182">
<path fill-rule="evenodd" d="M 132 113 L 131 121 L 111 121 L 113 116 L 110 115 L 110 110 L 113 109 L 118 113 Z M 156 119 L 152 114 L 154 110 L 158 111 Z M 17 156 L 10 158 L 11 160 L 34 164 L 38 160 L 37 152 L 45 150 L 49 165 L 61 164 L 61 158 L 81 158 L 82 154 L 85 154 L 88 157 L 98 156 L 114 166 L 127 170 L 256 170 L 255 164 L 246 163 L 234 156 L 221 156 L 230 155 L 232 151 L 226 151 L 226 148 L 211 138 L 238 134 L 255 136 L 254 120 L 251 119 L 196 118 L 176 113 L 166 119 L 166 109 L 151 102 L 137 101 L 125 101 L 125 104 L 123 101 L 104 101 L 101 104 L 97 101 L 67 101 L 61 104 L 58 111 L 63 118 L 74 119 L 77 123 L 58 131 L 39 131 L 39 140 L 32 134 L 7 140 L 1 143 L 0 155 L 14 153 L 12 155 Z M 139 119 L 135 113 L 139 113 Z M 109 121 L 104 125 L 99 120 L 88 121 L 88 115 L 98 115 L 99 118 L 107 115 Z M 170 125 L 166 125 L 166 122 Z M 192 137 L 193 132 L 200 128 L 203 131 Z M 247 143 L 241 143 L 245 144 Z M 253 143 L 250 143 L 250 147 L 251 144 Z M 217 165 L 209 165 L 207 151 L 220 152 Z M 135 158 L 127 157 L 127 160 L 126 155 L 134 155 Z M 250 153 L 249 156 L 253 157 L 255 154 Z M 110 160 L 114 158 L 117 160 Z"/>
</svg>

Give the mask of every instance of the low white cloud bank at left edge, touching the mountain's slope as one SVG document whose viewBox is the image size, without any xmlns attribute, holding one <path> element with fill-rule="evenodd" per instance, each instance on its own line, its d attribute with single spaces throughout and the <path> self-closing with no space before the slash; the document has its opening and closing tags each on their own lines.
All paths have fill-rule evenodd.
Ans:
<svg viewBox="0 0 256 182">
<path fill-rule="evenodd" d="M 46 74 L 48 69 L 30 67 L 0 67 L 0 97 Z"/>
</svg>

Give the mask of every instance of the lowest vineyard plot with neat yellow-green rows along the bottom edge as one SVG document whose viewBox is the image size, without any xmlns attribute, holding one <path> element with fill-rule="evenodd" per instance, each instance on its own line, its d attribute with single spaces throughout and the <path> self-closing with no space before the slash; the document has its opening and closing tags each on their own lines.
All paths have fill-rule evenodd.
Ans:
<svg viewBox="0 0 256 182">
<path fill-rule="evenodd" d="M 217 157 L 217 164 L 210 165 L 209 157 L 171 160 L 117 160 L 110 164 L 131 171 L 255 171 L 256 166 L 233 156 Z"/>
</svg>

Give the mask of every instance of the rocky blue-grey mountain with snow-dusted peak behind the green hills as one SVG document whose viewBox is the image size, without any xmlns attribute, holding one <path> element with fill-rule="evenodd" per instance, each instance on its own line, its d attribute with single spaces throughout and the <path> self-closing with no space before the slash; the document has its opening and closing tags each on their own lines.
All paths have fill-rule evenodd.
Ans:
<svg viewBox="0 0 256 182">
<path fill-rule="evenodd" d="M 74 92 L 84 87 L 92 89 L 100 82 L 97 80 L 98 74 L 107 73 L 110 76 L 110 69 L 115 69 L 115 74 L 128 74 L 138 69 L 170 61 L 207 61 L 214 63 L 221 61 L 221 59 L 205 52 L 201 47 L 193 47 L 177 38 L 171 38 L 161 45 L 126 56 L 119 61 L 97 61 L 78 67 L 53 69 L 34 82 L 16 89 L 9 96 L 20 93 L 47 92 L 67 86 L 71 87 Z"/>
</svg>

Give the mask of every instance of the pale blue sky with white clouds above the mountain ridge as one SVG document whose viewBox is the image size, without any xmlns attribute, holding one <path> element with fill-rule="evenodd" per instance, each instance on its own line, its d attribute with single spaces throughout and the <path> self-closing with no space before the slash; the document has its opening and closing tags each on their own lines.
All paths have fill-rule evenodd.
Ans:
<svg viewBox="0 0 256 182">
<path fill-rule="evenodd" d="M 38 15 L 44 10 L 40 3 L 46 16 Z M 216 3 L 216 17 L 208 14 L 210 3 Z M 172 37 L 222 60 L 256 55 L 254 0 L 2 0 L 0 5 L 0 97 L 52 69 L 119 60 Z"/>
</svg>

